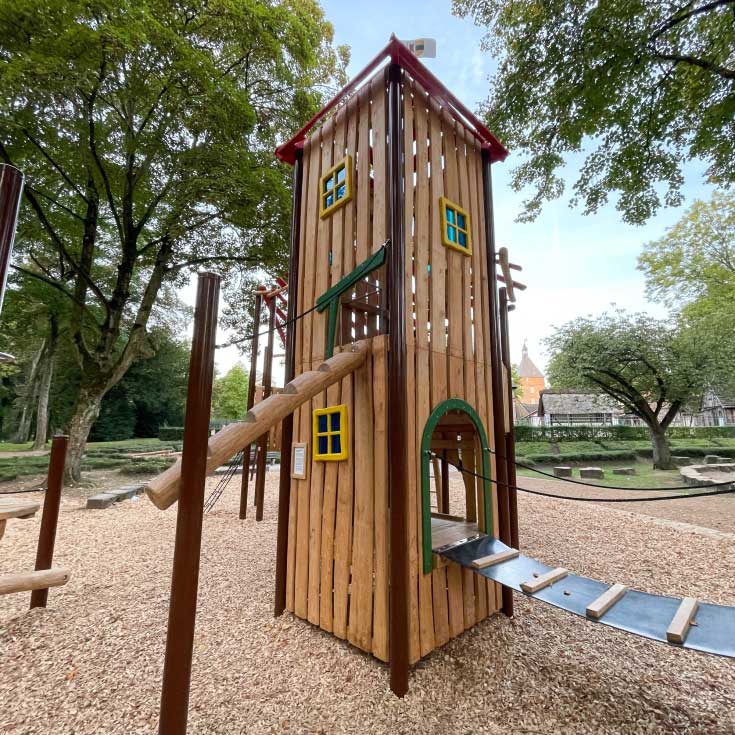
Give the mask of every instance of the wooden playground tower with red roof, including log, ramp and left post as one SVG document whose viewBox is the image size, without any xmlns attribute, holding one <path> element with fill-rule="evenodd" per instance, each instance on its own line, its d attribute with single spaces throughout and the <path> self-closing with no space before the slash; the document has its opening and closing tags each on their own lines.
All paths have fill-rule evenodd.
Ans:
<svg viewBox="0 0 735 735">
<path fill-rule="evenodd" d="M 412 663 L 512 615 L 513 589 L 734 655 L 733 608 L 519 552 L 507 315 L 525 286 L 495 249 L 491 166 L 506 151 L 490 131 L 392 38 L 277 155 L 294 167 L 286 385 L 208 440 L 218 282 L 202 276 L 184 455 L 146 490 L 161 509 L 180 500 L 160 731 L 186 726 L 204 478 L 279 422 L 275 614 L 388 662 L 397 695 Z"/>
</svg>

